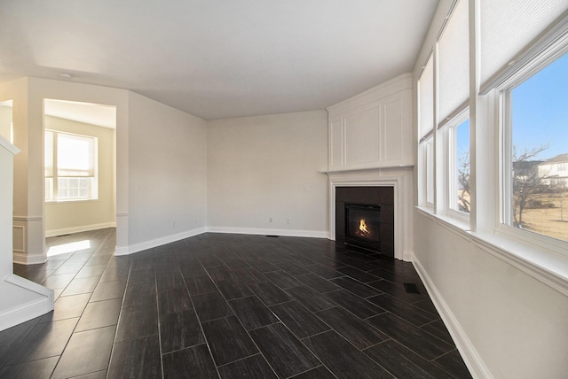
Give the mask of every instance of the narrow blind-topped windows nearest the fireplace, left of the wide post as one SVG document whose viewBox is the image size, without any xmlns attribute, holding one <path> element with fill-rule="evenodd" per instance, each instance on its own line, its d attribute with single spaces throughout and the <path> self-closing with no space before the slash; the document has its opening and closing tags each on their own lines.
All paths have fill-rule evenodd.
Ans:
<svg viewBox="0 0 568 379">
<path fill-rule="evenodd" d="M 419 205 L 469 221 L 469 3 L 455 1 L 418 80 Z"/>
</svg>

